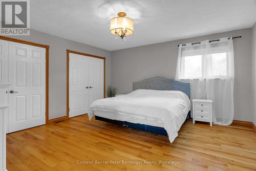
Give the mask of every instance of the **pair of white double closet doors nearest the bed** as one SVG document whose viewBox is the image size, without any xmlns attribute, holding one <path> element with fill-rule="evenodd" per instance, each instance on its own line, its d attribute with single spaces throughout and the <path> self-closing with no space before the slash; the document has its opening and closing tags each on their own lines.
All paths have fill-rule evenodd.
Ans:
<svg viewBox="0 0 256 171">
<path fill-rule="evenodd" d="M 103 59 L 69 54 L 69 116 L 88 113 L 94 100 L 103 98 Z"/>
</svg>

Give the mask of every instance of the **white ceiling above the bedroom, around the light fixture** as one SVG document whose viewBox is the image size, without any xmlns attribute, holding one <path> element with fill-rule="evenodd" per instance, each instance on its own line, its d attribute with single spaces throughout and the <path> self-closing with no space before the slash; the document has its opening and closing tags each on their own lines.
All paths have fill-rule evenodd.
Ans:
<svg viewBox="0 0 256 171">
<path fill-rule="evenodd" d="M 256 21 L 256 0 L 133 1 L 143 9 L 136 17 L 134 34 L 123 44 L 109 31 L 112 16 L 102 18 L 97 12 L 103 0 L 30 1 L 30 28 L 113 51 L 250 28 Z"/>
</svg>

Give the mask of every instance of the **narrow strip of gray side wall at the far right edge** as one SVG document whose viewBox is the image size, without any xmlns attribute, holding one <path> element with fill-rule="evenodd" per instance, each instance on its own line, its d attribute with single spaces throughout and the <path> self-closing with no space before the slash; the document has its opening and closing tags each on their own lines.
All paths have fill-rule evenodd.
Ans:
<svg viewBox="0 0 256 171">
<path fill-rule="evenodd" d="M 256 23 L 252 27 L 252 106 L 253 106 L 253 123 L 256 125 Z"/>
</svg>

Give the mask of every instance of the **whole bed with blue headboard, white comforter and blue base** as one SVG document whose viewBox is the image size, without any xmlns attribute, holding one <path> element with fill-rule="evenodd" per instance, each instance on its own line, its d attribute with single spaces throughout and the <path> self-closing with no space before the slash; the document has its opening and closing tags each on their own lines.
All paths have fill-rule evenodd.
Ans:
<svg viewBox="0 0 256 171">
<path fill-rule="evenodd" d="M 168 135 L 172 143 L 189 117 L 190 84 L 155 77 L 133 83 L 133 92 L 99 99 L 89 109 L 89 119 Z"/>
</svg>

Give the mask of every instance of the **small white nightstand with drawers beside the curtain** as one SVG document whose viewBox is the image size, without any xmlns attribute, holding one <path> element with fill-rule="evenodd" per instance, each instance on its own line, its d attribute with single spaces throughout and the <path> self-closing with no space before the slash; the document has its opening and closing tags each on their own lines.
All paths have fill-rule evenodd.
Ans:
<svg viewBox="0 0 256 171">
<path fill-rule="evenodd" d="M 212 100 L 193 99 L 193 123 L 210 122 L 212 126 Z"/>
</svg>

